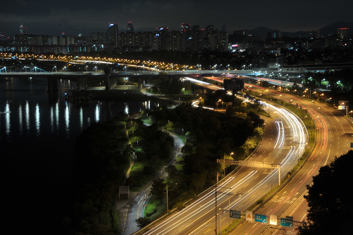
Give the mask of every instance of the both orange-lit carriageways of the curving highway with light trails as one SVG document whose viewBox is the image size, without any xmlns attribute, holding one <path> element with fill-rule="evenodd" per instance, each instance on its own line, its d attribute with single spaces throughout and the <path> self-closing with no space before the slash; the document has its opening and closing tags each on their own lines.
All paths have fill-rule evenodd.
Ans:
<svg viewBox="0 0 353 235">
<path fill-rule="evenodd" d="M 214 89 L 217 89 L 217 86 L 214 86 Z M 299 103 L 308 109 L 313 125 L 317 127 L 316 144 L 304 167 L 269 202 L 261 208 L 256 208 L 256 213 L 267 216 L 276 214 L 278 218 L 291 216 L 295 221 L 294 226 L 289 228 L 246 221 L 232 231 L 232 234 L 283 233 L 284 229 L 289 233 L 296 233 L 295 229 L 306 218 L 307 203 L 303 198 L 306 185 L 311 184 L 312 176 L 318 173 L 320 166 L 332 161 L 334 156 L 347 152 L 350 142 L 353 142 L 353 126 L 339 111 L 325 104 L 300 99 L 298 96 L 283 94 L 282 98 L 295 100 L 293 103 Z M 237 172 L 229 174 L 183 210 L 170 215 L 148 230 L 136 233 L 218 233 L 231 221 L 227 214 L 229 209 L 247 210 L 278 184 L 279 176 L 287 177 L 287 172 L 302 156 L 308 135 L 301 120 L 293 113 L 276 105 L 269 105 L 267 110 L 271 113 L 271 118 L 264 118 L 266 125 L 263 143 L 247 160 L 280 165 L 280 174 L 278 168 L 239 166 Z M 222 213 L 223 210 L 225 213 Z"/>
</svg>

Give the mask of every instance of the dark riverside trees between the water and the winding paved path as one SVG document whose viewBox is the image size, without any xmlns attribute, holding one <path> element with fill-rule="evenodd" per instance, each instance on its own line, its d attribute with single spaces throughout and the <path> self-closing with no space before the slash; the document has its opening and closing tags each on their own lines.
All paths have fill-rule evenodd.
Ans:
<svg viewBox="0 0 353 235">
<path fill-rule="evenodd" d="M 71 210 L 63 219 L 63 233 L 119 234 L 115 200 L 119 198 L 119 186 L 125 184 L 126 172 L 135 156 L 127 130 L 132 122 L 128 115 L 117 116 L 107 122 L 91 124 L 78 136 L 70 192 Z M 149 159 L 149 165 L 157 158 L 169 157 L 172 139 L 164 138 L 154 127 L 137 123 L 135 134 L 140 133 L 143 137 L 139 157 Z"/>
</svg>

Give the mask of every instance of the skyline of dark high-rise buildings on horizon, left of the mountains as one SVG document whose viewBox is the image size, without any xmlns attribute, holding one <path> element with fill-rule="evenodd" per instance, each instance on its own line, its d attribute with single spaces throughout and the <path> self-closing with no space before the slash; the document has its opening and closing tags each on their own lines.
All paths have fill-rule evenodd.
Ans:
<svg viewBox="0 0 353 235">
<path fill-rule="evenodd" d="M 20 27 L 21 34 L 13 37 L 13 45 L 6 50 L 32 51 L 36 53 L 75 53 L 83 51 L 226 51 L 228 34 L 226 26 L 222 30 L 214 30 L 213 25 L 200 29 L 199 25 L 183 23 L 181 31 L 161 27 L 150 32 L 134 32 L 132 22 L 127 25 L 126 32 L 118 33 L 118 24 L 108 24 L 106 32 L 91 33 L 90 36 L 68 36 L 63 32 L 60 36 L 27 34 L 27 28 Z M 16 47 L 16 48 L 15 48 Z M 0 46 L 0 51 L 4 47 Z"/>
</svg>

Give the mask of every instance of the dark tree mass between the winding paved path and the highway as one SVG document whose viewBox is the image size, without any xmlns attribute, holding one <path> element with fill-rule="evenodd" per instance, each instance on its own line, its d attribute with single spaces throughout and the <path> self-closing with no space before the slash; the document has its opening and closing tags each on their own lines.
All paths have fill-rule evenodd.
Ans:
<svg viewBox="0 0 353 235">
<path fill-rule="evenodd" d="M 261 136 L 257 128 L 259 115 L 255 113 L 238 118 L 229 113 L 182 104 L 174 109 L 154 110 L 150 119 L 154 125 L 179 133 L 186 139 L 177 166 L 167 167 L 169 207 L 182 207 L 183 202 L 212 186 L 216 172 L 223 172 L 224 167 L 228 167 L 228 172 L 234 168 L 217 163 L 217 159 L 223 159 L 224 154 L 230 152 L 234 153 L 233 159 L 244 159 L 247 147 L 256 147 L 254 144 L 247 146 L 248 137 Z"/>
</svg>

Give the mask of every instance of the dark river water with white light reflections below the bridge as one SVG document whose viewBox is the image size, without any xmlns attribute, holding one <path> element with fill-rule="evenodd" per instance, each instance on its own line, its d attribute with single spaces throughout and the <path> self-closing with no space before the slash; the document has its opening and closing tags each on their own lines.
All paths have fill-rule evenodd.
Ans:
<svg viewBox="0 0 353 235">
<path fill-rule="evenodd" d="M 160 105 L 148 97 L 72 103 L 65 92 L 76 85 L 63 79 L 58 81 L 58 92 L 47 92 L 46 78 L 0 78 L 0 159 L 9 230 L 40 234 L 61 223 L 71 199 L 76 137 L 92 122 Z"/>
</svg>

